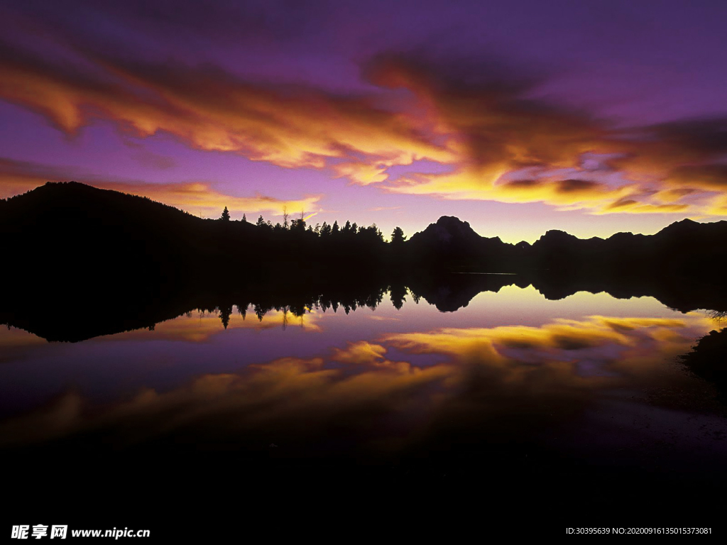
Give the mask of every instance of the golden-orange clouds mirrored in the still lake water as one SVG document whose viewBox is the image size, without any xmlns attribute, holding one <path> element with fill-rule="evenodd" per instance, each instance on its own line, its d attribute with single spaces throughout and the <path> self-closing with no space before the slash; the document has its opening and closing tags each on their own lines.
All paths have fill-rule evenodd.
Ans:
<svg viewBox="0 0 727 545">
<path fill-rule="evenodd" d="M 89 403 L 72 390 L 8 419 L 0 437 L 4 445 L 95 437 L 115 448 L 169 442 L 255 450 L 274 442 L 294 456 L 403 453 L 464 429 L 473 441 L 531 441 L 577 423 L 616 389 L 688 381 L 670 361 L 711 322 L 697 313 L 678 316 L 381 334 L 318 357 L 202 374 L 166 392 L 145 387 L 111 403 Z M 280 326 L 284 319 L 282 312 L 262 322 L 238 318 L 230 327 Z M 321 331 L 316 320 L 306 315 L 305 327 Z M 215 331 L 220 318 L 212 314 L 127 335 L 200 342 Z"/>
</svg>

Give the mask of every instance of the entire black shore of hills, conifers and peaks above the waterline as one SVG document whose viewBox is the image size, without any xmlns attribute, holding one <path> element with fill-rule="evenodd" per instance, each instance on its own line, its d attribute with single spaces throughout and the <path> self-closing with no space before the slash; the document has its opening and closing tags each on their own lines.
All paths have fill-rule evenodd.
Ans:
<svg viewBox="0 0 727 545">
<path fill-rule="evenodd" d="M 185 275 L 370 275 L 402 270 L 691 275 L 723 269 L 727 222 L 676 222 L 655 235 L 579 239 L 552 230 L 533 244 L 481 237 L 441 217 L 405 241 L 375 226 L 201 219 L 134 195 L 48 183 L 0 201 L 4 275 L 18 280 L 172 281 Z"/>
</svg>

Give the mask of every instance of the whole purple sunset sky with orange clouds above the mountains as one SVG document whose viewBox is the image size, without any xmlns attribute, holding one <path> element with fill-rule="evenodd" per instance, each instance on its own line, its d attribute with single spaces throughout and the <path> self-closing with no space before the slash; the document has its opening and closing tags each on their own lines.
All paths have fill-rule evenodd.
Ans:
<svg viewBox="0 0 727 545">
<path fill-rule="evenodd" d="M 0 0 L 0 198 L 442 215 L 535 241 L 727 219 L 724 1 Z"/>
</svg>

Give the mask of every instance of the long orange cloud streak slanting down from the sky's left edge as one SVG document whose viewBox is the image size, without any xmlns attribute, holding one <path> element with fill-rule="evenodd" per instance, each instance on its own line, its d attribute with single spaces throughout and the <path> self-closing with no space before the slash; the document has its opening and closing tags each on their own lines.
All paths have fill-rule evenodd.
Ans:
<svg viewBox="0 0 727 545">
<path fill-rule="evenodd" d="M 323 168 L 356 152 L 389 163 L 453 156 L 411 118 L 369 97 L 251 84 L 214 68 L 142 65 L 85 52 L 94 70 L 56 70 L 12 52 L 0 60 L 0 96 L 73 134 L 92 116 L 140 137 L 164 131 L 193 148 L 232 151 L 280 166 Z"/>
</svg>

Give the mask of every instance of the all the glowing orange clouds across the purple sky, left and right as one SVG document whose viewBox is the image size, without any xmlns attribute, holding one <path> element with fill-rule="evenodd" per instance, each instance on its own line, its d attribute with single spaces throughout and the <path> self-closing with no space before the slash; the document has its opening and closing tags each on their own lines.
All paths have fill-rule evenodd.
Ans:
<svg viewBox="0 0 727 545">
<path fill-rule="evenodd" d="M 60 69 L 4 47 L 0 97 L 42 113 L 67 134 L 102 117 L 139 137 L 166 132 L 191 148 L 332 169 L 336 177 L 393 193 L 544 202 L 597 214 L 723 214 L 720 206 L 704 204 L 708 193 L 727 191 L 722 119 L 617 129 L 530 98 L 537 81 L 515 73 L 404 55 L 375 57 L 364 77 L 377 91 L 346 96 L 255 83 L 210 66 L 129 62 L 95 51 L 75 49 L 83 58 Z M 608 159 L 596 169 L 585 166 L 584 158 L 594 155 Z M 454 172 L 392 178 L 390 167 L 421 159 Z M 530 184 L 512 181 L 523 169 L 534 171 Z M 620 179 L 606 179 L 614 173 Z M 663 190 L 691 195 L 664 202 Z M 209 187 L 156 191 L 176 199 L 165 202 L 205 210 L 221 203 Z M 199 202 L 205 191 L 206 204 Z M 262 199 L 239 201 L 236 208 L 268 210 Z M 294 208 L 310 204 L 295 202 Z"/>
</svg>

